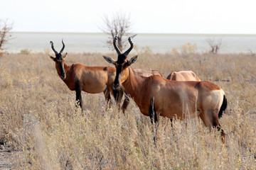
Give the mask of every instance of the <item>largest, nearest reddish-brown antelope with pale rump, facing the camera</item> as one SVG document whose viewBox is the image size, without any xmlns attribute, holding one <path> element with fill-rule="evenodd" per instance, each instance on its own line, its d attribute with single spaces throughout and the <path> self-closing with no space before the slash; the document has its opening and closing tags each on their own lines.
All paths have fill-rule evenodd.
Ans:
<svg viewBox="0 0 256 170">
<path fill-rule="evenodd" d="M 128 40 L 129 50 L 119 53 L 117 61 L 103 56 L 116 67 L 114 88 L 124 86 L 142 114 L 151 118 L 151 123 L 153 117 L 154 122 L 158 122 L 159 115 L 180 120 L 199 116 L 206 127 L 220 130 L 224 142 L 225 133 L 219 123 L 227 107 L 224 91 L 209 81 L 170 81 L 159 76 L 140 76 L 130 67 L 138 56 L 127 60 L 133 48 L 131 38 Z"/>
</svg>

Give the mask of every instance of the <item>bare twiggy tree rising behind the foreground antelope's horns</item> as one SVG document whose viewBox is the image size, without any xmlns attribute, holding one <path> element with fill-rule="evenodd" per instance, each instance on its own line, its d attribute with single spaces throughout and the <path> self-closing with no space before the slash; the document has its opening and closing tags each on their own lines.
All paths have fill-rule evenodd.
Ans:
<svg viewBox="0 0 256 170">
<path fill-rule="evenodd" d="M 119 47 L 119 50 L 122 52 L 124 47 L 127 46 L 127 40 L 122 40 L 122 38 L 124 35 L 128 35 L 131 29 L 130 16 L 127 16 L 124 13 L 114 13 L 112 14 L 112 17 L 105 16 L 103 21 L 105 23 L 105 28 L 102 28 L 102 31 L 109 35 L 106 42 L 107 45 L 110 49 L 114 50 L 113 40 L 117 35 L 117 47 Z"/>
</svg>

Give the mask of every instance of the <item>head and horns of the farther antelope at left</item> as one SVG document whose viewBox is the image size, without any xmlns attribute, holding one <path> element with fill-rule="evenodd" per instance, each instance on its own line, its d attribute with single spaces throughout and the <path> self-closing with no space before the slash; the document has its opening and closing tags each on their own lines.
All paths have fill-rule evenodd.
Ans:
<svg viewBox="0 0 256 170">
<path fill-rule="evenodd" d="M 49 55 L 49 57 L 55 62 L 55 67 L 57 69 L 58 75 L 60 76 L 60 79 L 65 79 L 65 72 L 64 72 L 64 58 L 67 56 L 67 52 L 62 55 L 62 52 L 65 48 L 64 42 L 62 40 L 63 47 L 60 50 L 60 52 L 57 52 L 53 47 L 53 42 L 50 41 L 51 48 L 53 49 L 53 52 L 55 53 L 55 57 L 52 57 Z"/>
</svg>

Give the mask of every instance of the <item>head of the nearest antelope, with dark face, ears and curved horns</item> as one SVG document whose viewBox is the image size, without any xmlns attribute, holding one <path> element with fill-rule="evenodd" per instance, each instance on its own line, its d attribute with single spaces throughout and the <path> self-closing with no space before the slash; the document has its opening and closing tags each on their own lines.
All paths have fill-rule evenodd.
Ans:
<svg viewBox="0 0 256 170">
<path fill-rule="evenodd" d="M 138 55 L 132 57 L 130 60 L 127 60 L 127 55 L 133 48 L 132 38 L 134 38 L 134 36 L 135 35 L 128 38 L 129 44 L 131 46 L 124 53 L 121 53 L 119 48 L 115 44 L 117 41 L 117 36 L 114 38 L 113 45 L 114 45 L 115 50 L 117 51 L 117 55 L 118 55 L 117 61 L 114 61 L 111 57 L 103 56 L 107 62 L 109 62 L 110 64 L 114 64 L 114 66 L 116 67 L 116 77 L 114 79 L 114 84 L 113 84 L 114 89 L 119 89 L 121 87 L 122 83 L 125 80 L 127 80 L 128 76 L 129 76 L 128 67 L 130 65 L 134 64 L 134 62 L 136 62 L 136 60 L 137 60 Z"/>
</svg>

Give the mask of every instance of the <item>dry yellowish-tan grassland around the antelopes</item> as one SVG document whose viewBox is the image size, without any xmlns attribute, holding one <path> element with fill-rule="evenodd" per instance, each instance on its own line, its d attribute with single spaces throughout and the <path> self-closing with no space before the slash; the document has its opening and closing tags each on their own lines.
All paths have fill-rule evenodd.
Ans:
<svg viewBox="0 0 256 170">
<path fill-rule="evenodd" d="M 225 144 L 196 118 L 176 120 L 174 128 L 161 119 L 154 145 L 149 117 L 134 101 L 123 115 L 115 107 L 105 111 L 103 94 L 83 92 L 81 113 L 47 54 L 0 58 L 0 161 L 1 153 L 11 154 L 0 169 L 256 169 L 255 55 L 134 50 L 139 58 L 132 67 L 157 69 L 164 77 L 193 70 L 228 98 L 220 118 Z M 102 55 L 68 54 L 65 62 L 109 65 Z"/>
</svg>

